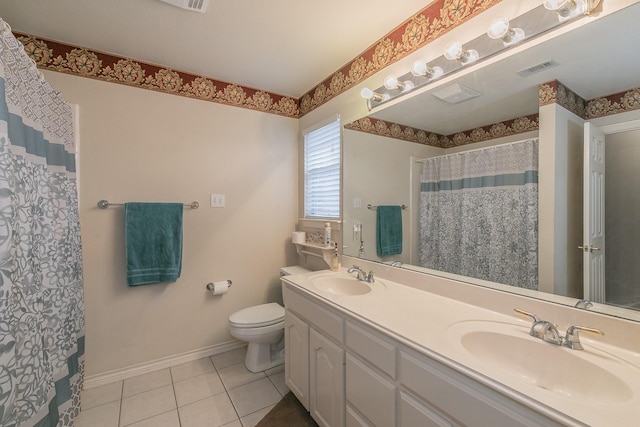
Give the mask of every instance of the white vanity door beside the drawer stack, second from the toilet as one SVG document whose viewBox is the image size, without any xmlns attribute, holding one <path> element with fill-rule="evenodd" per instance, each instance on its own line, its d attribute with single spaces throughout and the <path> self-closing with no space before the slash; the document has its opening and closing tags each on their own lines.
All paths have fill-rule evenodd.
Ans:
<svg viewBox="0 0 640 427">
<path fill-rule="evenodd" d="M 313 328 L 309 344 L 309 412 L 320 427 L 343 427 L 344 350 Z"/>
</svg>

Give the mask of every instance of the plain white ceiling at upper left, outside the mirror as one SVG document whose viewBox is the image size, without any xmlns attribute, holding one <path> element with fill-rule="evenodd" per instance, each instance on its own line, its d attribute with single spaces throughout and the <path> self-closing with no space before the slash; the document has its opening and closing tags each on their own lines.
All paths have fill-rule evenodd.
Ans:
<svg viewBox="0 0 640 427">
<path fill-rule="evenodd" d="M 425 0 L 3 0 L 15 31 L 301 97 L 429 4 Z"/>
</svg>

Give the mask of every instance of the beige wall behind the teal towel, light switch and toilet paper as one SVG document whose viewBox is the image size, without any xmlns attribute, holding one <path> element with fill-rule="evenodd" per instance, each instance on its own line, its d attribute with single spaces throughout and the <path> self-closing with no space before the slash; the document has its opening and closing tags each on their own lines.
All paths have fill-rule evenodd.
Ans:
<svg viewBox="0 0 640 427">
<path fill-rule="evenodd" d="M 279 268 L 296 263 L 297 120 L 45 74 L 79 105 L 88 377 L 232 341 L 232 312 L 281 301 Z M 100 199 L 200 202 L 184 213 L 176 283 L 127 287 L 123 209 Z M 223 279 L 226 295 L 207 293 Z"/>
</svg>

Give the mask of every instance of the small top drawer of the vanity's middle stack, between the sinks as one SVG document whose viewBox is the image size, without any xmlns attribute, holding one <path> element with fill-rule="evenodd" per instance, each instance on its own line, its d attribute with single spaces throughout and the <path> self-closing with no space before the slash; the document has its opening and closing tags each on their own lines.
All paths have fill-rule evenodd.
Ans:
<svg viewBox="0 0 640 427">
<path fill-rule="evenodd" d="M 347 322 L 345 342 L 349 350 L 353 350 L 361 358 L 396 379 L 396 347 L 364 328 Z"/>
</svg>

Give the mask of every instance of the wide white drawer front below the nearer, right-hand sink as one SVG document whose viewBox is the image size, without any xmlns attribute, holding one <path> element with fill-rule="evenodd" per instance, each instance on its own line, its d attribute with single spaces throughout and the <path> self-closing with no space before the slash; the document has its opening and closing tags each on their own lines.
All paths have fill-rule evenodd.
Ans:
<svg viewBox="0 0 640 427">
<path fill-rule="evenodd" d="M 419 357 L 419 358 L 418 358 Z M 403 387 L 465 425 L 560 426 L 544 415 L 425 356 L 400 352 Z"/>
</svg>

